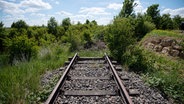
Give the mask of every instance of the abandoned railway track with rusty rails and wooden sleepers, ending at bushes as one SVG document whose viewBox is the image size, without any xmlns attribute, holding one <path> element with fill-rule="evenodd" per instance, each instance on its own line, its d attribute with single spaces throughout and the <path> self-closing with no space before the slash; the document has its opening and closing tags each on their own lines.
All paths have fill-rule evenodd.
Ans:
<svg viewBox="0 0 184 104">
<path fill-rule="evenodd" d="M 114 64 L 103 58 L 70 58 L 68 66 L 45 104 L 132 104 Z"/>
</svg>

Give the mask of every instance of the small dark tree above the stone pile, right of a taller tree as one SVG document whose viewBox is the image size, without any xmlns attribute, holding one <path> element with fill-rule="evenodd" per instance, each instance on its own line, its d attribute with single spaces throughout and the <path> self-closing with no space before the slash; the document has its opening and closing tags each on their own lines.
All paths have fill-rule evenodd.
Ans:
<svg viewBox="0 0 184 104">
<path fill-rule="evenodd" d="M 160 20 L 160 28 L 165 29 L 173 29 L 173 22 L 170 18 L 170 14 L 163 14 Z"/>
</svg>

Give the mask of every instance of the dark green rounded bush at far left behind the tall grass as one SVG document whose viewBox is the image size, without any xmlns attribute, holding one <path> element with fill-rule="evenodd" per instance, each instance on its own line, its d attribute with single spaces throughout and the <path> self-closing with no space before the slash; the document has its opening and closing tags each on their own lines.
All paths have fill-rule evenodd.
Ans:
<svg viewBox="0 0 184 104">
<path fill-rule="evenodd" d="M 9 42 L 8 49 L 11 64 L 13 64 L 14 60 L 29 61 L 32 56 L 36 56 L 37 54 L 37 47 L 35 43 L 24 35 L 19 36 L 17 38 L 13 38 Z"/>
</svg>

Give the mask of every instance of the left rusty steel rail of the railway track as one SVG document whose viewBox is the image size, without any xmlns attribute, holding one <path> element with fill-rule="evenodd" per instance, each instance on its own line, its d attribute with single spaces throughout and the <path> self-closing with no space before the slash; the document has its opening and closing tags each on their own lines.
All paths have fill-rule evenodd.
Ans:
<svg viewBox="0 0 184 104">
<path fill-rule="evenodd" d="M 74 57 L 70 61 L 70 64 L 68 65 L 67 69 L 65 70 L 65 72 L 63 73 L 61 78 L 59 79 L 58 83 L 56 84 L 54 90 L 52 91 L 52 93 L 48 97 L 45 104 L 53 104 L 54 103 L 55 98 L 58 96 L 59 90 L 60 90 L 61 86 L 63 85 L 63 83 L 66 79 L 66 76 L 67 76 L 68 72 L 70 71 L 70 69 L 71 69 L 71 67 L 72 67 L 72 65 L 73 65 L 73 63 L 75 62 L 76 59 L 77 59 L 77 53 L 74 55 Z"/>
</svg>

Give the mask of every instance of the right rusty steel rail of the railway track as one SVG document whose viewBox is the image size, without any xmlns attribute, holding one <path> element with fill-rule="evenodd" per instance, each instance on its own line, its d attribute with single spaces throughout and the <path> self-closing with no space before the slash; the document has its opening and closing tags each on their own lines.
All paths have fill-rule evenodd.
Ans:
<svg viewBox="0 0 184 104">
<path fill-rule="evenodd" d="M 106 53 L 105 53 L 105 59 L 107 60 L 109 66 L 110 66 L 110 69 L 113 72 L 114 78 L 115 78 L 115 80 L 118 84 L 119 90 L 120 90 L 121 97 L 125 99 L 125 101 L 126 101 L 125 103 L 133 104 L 128 92 L 126 91 L 125 86 L 123 85 L 121 79 L 119 78 L 115 68 L 113 67 L 113 65 L 112 65 L 112 63 L 111 63 L 111 61 L 110 61 L 110 59 L 109 59 L 109 57 L 107 56 Z"/>
</svg>

